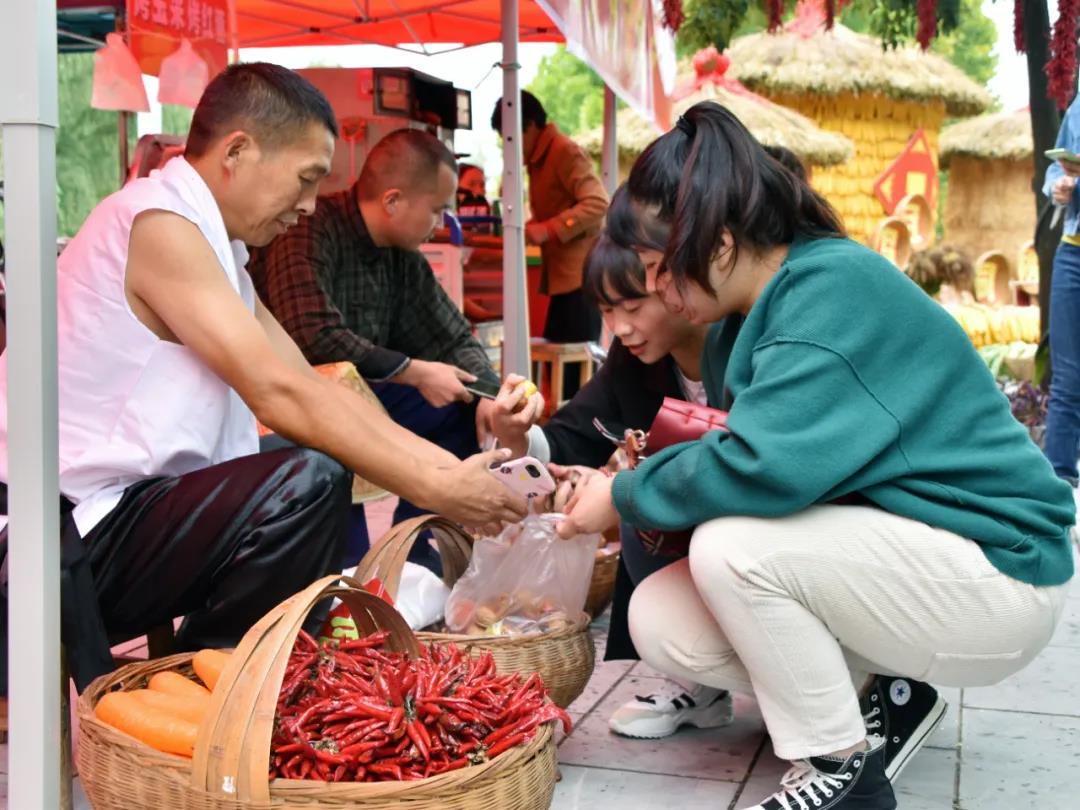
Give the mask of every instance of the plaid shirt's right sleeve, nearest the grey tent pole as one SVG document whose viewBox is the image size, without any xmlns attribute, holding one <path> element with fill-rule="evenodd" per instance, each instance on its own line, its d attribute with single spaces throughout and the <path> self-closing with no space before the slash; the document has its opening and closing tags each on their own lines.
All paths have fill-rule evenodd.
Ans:
<svg viewBox="0 0 1080 810">
<path fill-rule="evenodd" d="M 394 321 L 390 342 L 410 356 L 449 363 L 498 382 L 499 376 L 473 337 L 469 321 L 443 289 L 428 260 L 414 252 L 400 252 L 399 256 L 403 311 Z"/>
</svg>

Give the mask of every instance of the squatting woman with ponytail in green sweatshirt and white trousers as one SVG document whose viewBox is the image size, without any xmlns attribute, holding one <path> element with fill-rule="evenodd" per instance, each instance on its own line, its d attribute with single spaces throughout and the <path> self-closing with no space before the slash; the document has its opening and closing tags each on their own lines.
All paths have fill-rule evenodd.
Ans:
<svg viewBox="0 0 1080 810">
<path fill-rule="evenodd" d="M 795 765 L 747 810 L 892 810 L 943 711 L 921 681 L 993 684 L 1050 640 L 1070 488 L 959 325 L 726 109 L 690 108 L 627 188 L 608 228 L 650 291 L 745 315 L 726 365 L 708 342 L 702 363 L 730 432 L 590 480 L 562 531 L 698 526 L 635 591 L 631 634 L 658 670 L 756 694 Z"/>
</svg>

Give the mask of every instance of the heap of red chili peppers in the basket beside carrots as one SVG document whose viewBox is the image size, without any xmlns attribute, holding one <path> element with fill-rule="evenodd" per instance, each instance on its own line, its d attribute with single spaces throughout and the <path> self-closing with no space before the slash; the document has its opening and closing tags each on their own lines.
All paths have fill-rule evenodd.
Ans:
<svg viewBox="0 0 1080 810">
<path fill-rule="evenodd" d="M 389 633 L 318 644 L 301 631 L 285 670 L 270 778 L 413 780 L 481 765 L 570 716 L 540 676 L 499 675 L 490 652 L 433 644 L 417 659 Z"/>
</svg>

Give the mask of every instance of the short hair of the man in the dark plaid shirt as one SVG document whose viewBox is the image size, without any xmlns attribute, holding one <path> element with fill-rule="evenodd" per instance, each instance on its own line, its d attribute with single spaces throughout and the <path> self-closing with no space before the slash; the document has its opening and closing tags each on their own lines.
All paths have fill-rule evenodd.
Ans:
<svg viewBox="0 0 1080 810">
<path fill-rule="evenodd" d="M 361 200 L 375 200 L 391 188 L 434 187 L 438 166 L 458 173 L 458 162 L 442 140 L 423 130 L 394 130 L 372 147 L 356 180 Z"/>
</svg>

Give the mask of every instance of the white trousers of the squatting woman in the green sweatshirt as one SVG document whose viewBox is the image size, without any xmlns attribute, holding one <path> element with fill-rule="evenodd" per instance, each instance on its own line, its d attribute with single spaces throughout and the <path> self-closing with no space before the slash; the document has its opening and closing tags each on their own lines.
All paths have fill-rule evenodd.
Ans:
<svg viewBox="0 0 1080 810">
<path fill-rule="evenodd" d="M 690 556 L 634 591 L 643 660 L 674 677 L 753 692 L 777 755 L 863 740 L 856 685 L 874 674 L 986 686 L 1050 642 L 1067 585 L 998 571 L 976 543 L 868 507 L 721 517 Z"/>
</svg>

